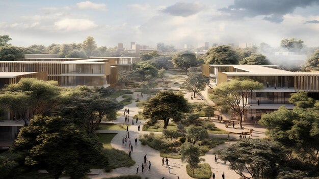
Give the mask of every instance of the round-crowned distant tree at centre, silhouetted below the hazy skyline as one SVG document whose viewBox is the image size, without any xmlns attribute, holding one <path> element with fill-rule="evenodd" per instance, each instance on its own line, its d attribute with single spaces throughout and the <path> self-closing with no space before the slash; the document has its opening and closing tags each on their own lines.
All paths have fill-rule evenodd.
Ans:
<svg viewBox="0 0 319 179">
<path fill-rule="evenodd" d="M 198 61 L 196 60 L 196 55 L 191 52 L 180 52 L 172 57 L 172 63 L 175 68 L 180 68 L 184 70 L 187 74 L 187 70 L 192 66 L 198 66 Z"/>
</svg>

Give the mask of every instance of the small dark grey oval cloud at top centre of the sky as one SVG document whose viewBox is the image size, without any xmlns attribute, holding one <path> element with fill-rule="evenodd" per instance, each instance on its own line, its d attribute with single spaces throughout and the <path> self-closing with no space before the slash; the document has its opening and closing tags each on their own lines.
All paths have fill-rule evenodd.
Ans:
<svg viewBox="0 0 319 179">
<path fill-rule="evenodd" d="M 173 16 L 182 16 L 182 17 L 188 17 L 194 14 L 199 13 L 205 9 L 205 6 L 201 4 L 200 2 L 194 2 L 194 3 L 176 3 L 172 6 L 168 6 L 165 9 L 162 10 L 164 13 L 168 13 Z"/>
</svg>

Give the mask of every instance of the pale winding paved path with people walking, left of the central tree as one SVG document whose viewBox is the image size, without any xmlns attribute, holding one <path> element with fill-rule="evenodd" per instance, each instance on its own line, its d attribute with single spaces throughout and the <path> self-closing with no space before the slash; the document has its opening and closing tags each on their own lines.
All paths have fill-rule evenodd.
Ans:
<svg viewBox="0 0 319 179">
<path fill-rule="evenodd" d="M 134 98 L 136 98 L 136 94 L 134 93 Z M 140 94 L 140 93 L 139 93 Z M 139 96 L 141 99 L 141 97 Z M 118 101 L 122 100 L 121 97 L 117 98 Z M 147 95 L 144 95 L 143 99 L 141 100 L 147 100 Z M 125 106 L 120 112 L 123 114 L 125 108 L 129 108 L 129 116 L 130 116 L 130 122 L 131 124 L 131 116 L 134 116 L 138 114 L 139 111 L 142 111 L 138 107 L 136 107 L 135 100 L 132 102 L 132 104 Z M 114 121 L 115 123 L 124 123 L 124 116 L 118 116 L 118 119 Z M 138 123 L 140 124 L 140 129 L 142 130 L 144 120 L 139 120 Z M 138 144 L 135 145 L 134 139 L 138 138 L 142 134 L 148 134 L 150 132 L 146 131 L 138 131 L 138 125 L 136 124 L 136 119 L 134 120 L 134 125 L 131 125 L 129 127 L 129 133 L 130 133 L 130 140 L 133 144 L 133 152 L 131 152 L 131 157 L 134 161 L 136 161 L 136 164 L 131 167 L 121 167 L 116 168 L 112 170 L 112 172 L 105 173 L 103 170 L 95 169 L 92 170 L 93 173 L 99 173 L 98 175 L 91 175 L 89 178 L 103 178 L 103 177 L 113 177 L 113 176 L 119 176 L 119 175 L 134 175 L 136 174 L 136 167 L 139 165 L 139 172 L 138 174 L 142 176 L 144 179 L 145 177 L 148 177 L 149 179 L 153 178 L 162 178 L 163 176 L 166 179 L 170 178 L 192 178 L 190 177 L 186 172 L 186 163 L 182 163 L 180 159 L 169 159 L 169 165 L 171 167 L 171 173 L 168 173 L 168 168 L 166 165 L 162 166 L 162 158 L 159 156 L 159 151 L 155 150 L 148 145 L 141 145 L 141 142 L 138 141 Z M 99 133 L 118 133 L 111 141 L 111 145 L 120 150 L 124 150 L 125 152 L 128 152 L 128 144 L 122 145 L 122 138 L 126 136 L 126 131 L 117 131 L 117 130 L 99 130 Z M 154 132 L 155 133 L 155 132 Z M 218 136 L 218 135 L 217 135 Z M 225 136 L 225 135 L 224 135 Z M 225 165 L 222 161 L 218 161 L 217 163 L 214 162 L 214 153 L 219 150 L 220 148 L 226 147 L 229 145 L 229 143 L 225 143 L 222 145 L 219 145 L 211 150 L 209 150 L 204 158 L 206 161 L 203 163 L 208 163 L 211 166 L 211 170 L 215 172 L 216 178 L 221 178 L 222 172 L 226 173 L 226 178 L 239 178 L 239 175 L 235 173 L 233 170 L 228 169 L 228 165 Z M 147 154 L 147 160 L 151 161 L 151 169 L 148 169 L 148 161 L 147 164 L 144 164 L 144 172 L 142 173 L 141 165 L 144 162 L 144 156 Z"/>
</svg>

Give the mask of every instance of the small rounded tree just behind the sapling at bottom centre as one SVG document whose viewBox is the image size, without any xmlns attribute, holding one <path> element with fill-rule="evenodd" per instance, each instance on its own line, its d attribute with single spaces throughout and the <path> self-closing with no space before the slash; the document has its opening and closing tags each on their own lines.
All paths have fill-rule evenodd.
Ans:
<svg viewBox="0 0 319 179">
<path fill-rule="evenodd" d="M 208 133 L 202 126 L 190 125 L 186 129 L 186 136 L 193 144 L 195 144 L 200 140 L 206 139 L 208 137 Z"/>
</svg>

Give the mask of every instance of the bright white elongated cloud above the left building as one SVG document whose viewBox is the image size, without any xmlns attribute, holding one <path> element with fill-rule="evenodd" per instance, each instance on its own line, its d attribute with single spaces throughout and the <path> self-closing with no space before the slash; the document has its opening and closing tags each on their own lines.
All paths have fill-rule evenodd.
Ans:
<svg viewBox="0 0 319 179">
<path fill-rule="evenodd" d="M 54 26 L 60 31 L 85 31 L 97 27 L 97 25 L 89 19 L 72 18 L 56 21 Z"/>
</svg>

